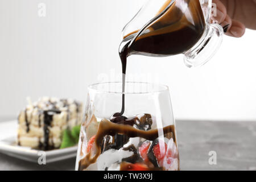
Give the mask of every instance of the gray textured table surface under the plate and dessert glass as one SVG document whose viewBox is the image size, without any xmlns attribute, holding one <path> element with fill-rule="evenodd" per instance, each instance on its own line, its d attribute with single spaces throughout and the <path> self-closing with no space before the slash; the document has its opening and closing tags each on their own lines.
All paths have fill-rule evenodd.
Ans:
<svg viewBox="0 0 256 182">
<path fill-rule="evenodd" d="M 176 121 L 176 130 L 181 170 L 256 170 L 256 122 Z M 40 166 L 0 154 L 0 170 L 73 170 L 75 160 Z"/>
</svg>

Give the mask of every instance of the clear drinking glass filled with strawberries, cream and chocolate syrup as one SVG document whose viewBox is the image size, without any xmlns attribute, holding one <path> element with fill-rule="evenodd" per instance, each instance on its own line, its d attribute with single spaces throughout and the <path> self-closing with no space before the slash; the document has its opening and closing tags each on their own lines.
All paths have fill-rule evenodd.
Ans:
<svg viewBox="0 0 256 182">
<path fill-rule="evenodd" d="M 126 82 L 125 113 L 122 82 L 88 87 L 81 125 L 76 170 L 179 170 L 175 120 L 167 86 Z"/>
</svg>

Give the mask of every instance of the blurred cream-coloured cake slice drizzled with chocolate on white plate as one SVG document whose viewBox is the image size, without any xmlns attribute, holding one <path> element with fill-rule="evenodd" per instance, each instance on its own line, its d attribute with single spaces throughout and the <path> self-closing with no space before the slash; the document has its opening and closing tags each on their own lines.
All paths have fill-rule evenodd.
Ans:
<svg viewBox="0 0 256 182">
<path fill-rule="evenodd" d="M 43 97 L 20 111 L 18 144 L 39 150 L 60 148 L 63 132 L 81 124 L 82 104 Z"/>
</svg>

